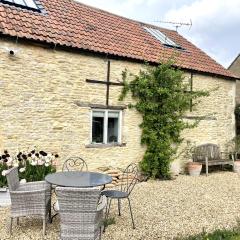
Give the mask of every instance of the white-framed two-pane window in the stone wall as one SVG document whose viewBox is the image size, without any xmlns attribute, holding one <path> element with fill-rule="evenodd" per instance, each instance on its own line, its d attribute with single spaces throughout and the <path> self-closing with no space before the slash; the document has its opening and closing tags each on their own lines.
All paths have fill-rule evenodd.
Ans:
<svg viewBox="0 0 240 240">
<path fill-rule="evenodd" d="M 91 143 L 92 144 L 121 144 L 122 111 L 92 110 Z"/>
</svg>

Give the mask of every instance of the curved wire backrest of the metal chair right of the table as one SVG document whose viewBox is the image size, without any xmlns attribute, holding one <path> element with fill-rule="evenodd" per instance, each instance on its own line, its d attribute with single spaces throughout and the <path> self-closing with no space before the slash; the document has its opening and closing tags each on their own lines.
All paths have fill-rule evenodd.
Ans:
<svg viewBox="0 0 240 240">
<path fill-rule="evenodd" d="M 120 190 L 130 194 L 139 181 L 138 166 L 135 163 L 128 165 L 119 178 L 121 184 Z"/>
</svg>

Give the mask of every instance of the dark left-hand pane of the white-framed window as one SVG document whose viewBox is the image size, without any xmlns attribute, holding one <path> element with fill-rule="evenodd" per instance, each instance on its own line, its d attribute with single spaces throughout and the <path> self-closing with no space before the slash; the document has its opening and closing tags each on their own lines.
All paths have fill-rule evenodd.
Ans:
<svg viewBox="0 0 240 240">
<path fill-rule="evenodd" d="M 92 118 L 92 142 L 103 143 L 104 117 L 94 116 Z"/>
</svg>

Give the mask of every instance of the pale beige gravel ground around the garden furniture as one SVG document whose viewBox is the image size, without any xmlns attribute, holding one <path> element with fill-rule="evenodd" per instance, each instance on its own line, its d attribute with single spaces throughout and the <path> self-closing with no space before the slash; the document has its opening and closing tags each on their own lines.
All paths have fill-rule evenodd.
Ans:
<svg viewBox="0 0 240 240">
<path fill-rule="evenodd" d="M 240 176 L 231 172 L 209 177 L 179 176 L 173 181 L 140 183 L 132 193 L 137 228 L 131 228 L 127 201 L 122 216 L 113 205 L 111 217 L 116 224 L 107 228 L 103 239 L 174 239 L 216 228 L 232 228 L 240 219 Z M 9 209 L 0 208 L 0 239 L 42 239 L 41 221 L 32 218 L 14 224 L 13 236 L 7 232 Z M 47 227 L 46 239 L 58 239 L 59 219 Z"/>
</svg>

